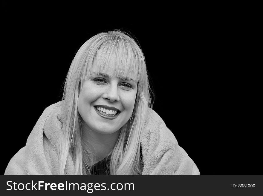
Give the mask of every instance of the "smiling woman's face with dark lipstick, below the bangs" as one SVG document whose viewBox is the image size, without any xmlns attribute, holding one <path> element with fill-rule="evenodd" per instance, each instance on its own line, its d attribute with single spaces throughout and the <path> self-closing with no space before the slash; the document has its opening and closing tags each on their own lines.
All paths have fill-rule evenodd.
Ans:
<svg viewBox="0 0 263 196">
<path fill-rule="evenodd" d="M 78 111 L 88 130 L 101 134 L 112 134 L 126 124 L 137 93 L 137 82 L 117 78 L 112 67 L 111 60 L 107 73 L 97 75 L 93 64 L 78 99 Z"/>
</svg>

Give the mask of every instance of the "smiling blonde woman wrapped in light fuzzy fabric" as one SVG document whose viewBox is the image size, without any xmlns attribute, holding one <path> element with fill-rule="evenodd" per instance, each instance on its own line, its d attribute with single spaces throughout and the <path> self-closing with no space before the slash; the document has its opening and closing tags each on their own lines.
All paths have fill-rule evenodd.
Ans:
<svg viewBox="0 0 263 196">
<path fill-rule="evenodd" d="M 46 108 L 5 175 L 199 175 L 153 111 L 144 55 L 121 31 L 75 55 L 62 101 Z"/>
</svg>

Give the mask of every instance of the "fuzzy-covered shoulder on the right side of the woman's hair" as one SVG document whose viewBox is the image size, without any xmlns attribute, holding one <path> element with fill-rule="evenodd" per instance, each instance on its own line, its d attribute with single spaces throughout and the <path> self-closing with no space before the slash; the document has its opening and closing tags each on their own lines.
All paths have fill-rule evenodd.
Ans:
<svg viewBox="0 0 263 196">
<path fill-rule="evenodd" d="M 173 132 L 154 110 L 148 110 L 148 120 L 141 140 L 145 160 L 143 175 L 198 175 L 198 168 L 178 145 Z"/>
</svg>

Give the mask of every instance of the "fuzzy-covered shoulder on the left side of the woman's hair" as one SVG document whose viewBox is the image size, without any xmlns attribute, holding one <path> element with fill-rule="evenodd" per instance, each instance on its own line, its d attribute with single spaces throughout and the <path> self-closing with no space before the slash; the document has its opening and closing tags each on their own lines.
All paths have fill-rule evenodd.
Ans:
<svg viewBox="0 0 263 196">
<path fill-rule="evenodd" d="M 56 146 L 61 132 L 63 102 L 48 106 L 42 112 L 27 138 L 25 147 L 10 160 L 5 175 L 51 175 L 58 164 Z"/>
</svg>

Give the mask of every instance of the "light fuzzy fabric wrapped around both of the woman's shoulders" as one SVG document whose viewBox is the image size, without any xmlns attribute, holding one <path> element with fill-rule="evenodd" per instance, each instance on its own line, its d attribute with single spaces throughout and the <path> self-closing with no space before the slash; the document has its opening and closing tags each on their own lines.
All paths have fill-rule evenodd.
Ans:
<svg viewBox="0 0 263 196">
<path fill-rule="evenodd" d="M 58 175 L 56 152 L 61 133 L 62 104 L 47 107 L 20 149 L 8 163 L 4 175 Z M 142 175 L 200 175 L 194 161 L 178 146 L 173 133 L 152 109 L 141 141 Z M 66 175 L 74 175 L 74 163 L 68 156 Z"/>
</svg>

